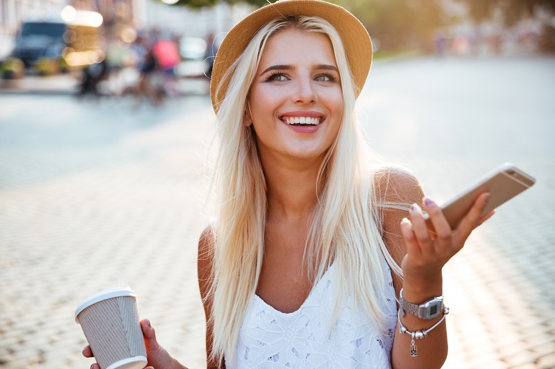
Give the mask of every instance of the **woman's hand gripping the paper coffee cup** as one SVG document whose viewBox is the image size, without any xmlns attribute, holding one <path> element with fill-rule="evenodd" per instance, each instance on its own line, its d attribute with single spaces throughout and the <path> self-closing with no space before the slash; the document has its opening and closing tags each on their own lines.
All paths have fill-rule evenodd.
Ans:
<svg viewBox="0 0 555 369">
<path fill-rule="evenodd" d="M 156 334 L 154 328 L 151 326 L 151 322 L 148 319 L 143 319 L 141 321 L 141 330 L 144 336 L 144 345 L 146 348 L 146 357 L 148 360 L 148 366 L 144 369 L 170 369 L 170 368 L 185 368 L 178 364 L 168 352 L 162 348 L 156 341 Z M 85 346 L 83 349 L 84 357 L 94 357 L 91 347 L 89 345 Z M 91 369 L 101 369 L 99 364 L 94 363 Z"/>
</svg>

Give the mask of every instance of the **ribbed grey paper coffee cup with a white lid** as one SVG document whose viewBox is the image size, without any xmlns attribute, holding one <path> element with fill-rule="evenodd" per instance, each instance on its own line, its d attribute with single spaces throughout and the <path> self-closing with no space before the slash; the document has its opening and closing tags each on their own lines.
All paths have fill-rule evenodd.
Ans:
<svg viewBox="0 0 555 369">
<path fill-rule="evenodd" d="M 101 369 L 142 369 L 146 348 L 137 312 L 137 294 L 129 287 L 89 296 L 75 311 Z"/>
</svg>

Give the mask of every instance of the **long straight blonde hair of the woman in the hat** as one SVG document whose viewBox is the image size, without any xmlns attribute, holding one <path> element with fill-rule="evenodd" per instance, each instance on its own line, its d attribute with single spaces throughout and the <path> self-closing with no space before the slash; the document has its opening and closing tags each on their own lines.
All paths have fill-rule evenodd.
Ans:
<svg viewBox="0 0 555 369">
<path fill-rule="evenodd" d="M 388 321 L 380 301 L 385 299 L 391 269 L 400 268 L 382 239 L 380 208 L 375 190 L 375 163 L 355 117 L 355 84 L 341 37 L 318 17 L 279 17 L 263 26 L 222 80 L 230 80 L 217 114 L 219 155 L 214 186 L 218 195 L 214 226 L 213 283 L 210 324 L 214 334 L 212 360 L 232 363 L 239 330 L 257 289 L 266 224 L 266 183 L 257 154 L 255 133 L 245 124 L 250 85 L 268 39 L 287 28 L 323 33 L 330 38 L 341 75 L 343 118 L 339 134 L 328 150 L 318 175 L 318 204 L 307 246 L 305 266 L 318 281 L 334 262 L 336 296 L 350 291 L 379 332 Z M 237 109 L 243 107 L 243 109 Z M 391 287 L 389 287 L 391 288 Z M 341 307 L 336 298 L 336 314 Z"/>
</svg>

